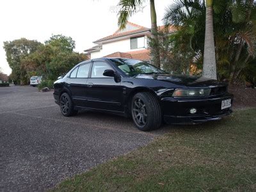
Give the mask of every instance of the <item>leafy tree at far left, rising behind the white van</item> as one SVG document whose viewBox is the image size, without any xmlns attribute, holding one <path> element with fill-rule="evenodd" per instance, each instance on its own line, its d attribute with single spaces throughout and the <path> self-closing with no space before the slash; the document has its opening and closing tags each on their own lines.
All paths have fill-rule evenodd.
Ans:
<svg viewBox="0 0 256 192">
<path fill-rule="evenodd" d="M 41 45 L 40 42 L 27 40 L 26 38 L 4 42 L 6 60 L 10 68 L 12 68 L 11 77 L 16 83 L 24 84 L 28 82 L 28 77 L 26 77 L 27 70 L 22 67 L 21 60 L 28 54 L 35 52 L 39 45 Z"/>
</svg>

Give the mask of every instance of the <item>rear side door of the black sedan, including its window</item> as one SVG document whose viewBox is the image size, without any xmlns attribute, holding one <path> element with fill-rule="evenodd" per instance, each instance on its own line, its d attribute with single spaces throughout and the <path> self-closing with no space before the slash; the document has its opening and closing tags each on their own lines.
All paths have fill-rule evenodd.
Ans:
<svg viewBox="0 0 256 192">
<path fill-rule="evenodd" d="M 76 67 L 68 77 L 67 86 L 72 93 L 72 100 L 76 106 L 86 106 L 86 89 L 91 62 Z"/>
</svg>

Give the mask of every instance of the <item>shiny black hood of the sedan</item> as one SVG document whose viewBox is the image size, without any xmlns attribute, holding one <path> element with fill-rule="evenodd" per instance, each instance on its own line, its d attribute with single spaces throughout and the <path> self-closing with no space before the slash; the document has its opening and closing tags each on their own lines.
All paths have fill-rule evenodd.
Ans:
<svg viewBox="0 0 256 192">
<path fill-rule="evenodd" d="M 191 87 L 205 87 L 205 86 L 221 86 L 225 83 L 220 83 L 214 79 L 208 79 L 205 77 L 198 76 L 178 76 L 171 74 L 141 74 L 134 76 L 134 78 L 141 79 L 155 79 L 159 81 L 165 81 L 173 84 L 179 84 L 182 86 L 191 86 Z"/>
</svg>

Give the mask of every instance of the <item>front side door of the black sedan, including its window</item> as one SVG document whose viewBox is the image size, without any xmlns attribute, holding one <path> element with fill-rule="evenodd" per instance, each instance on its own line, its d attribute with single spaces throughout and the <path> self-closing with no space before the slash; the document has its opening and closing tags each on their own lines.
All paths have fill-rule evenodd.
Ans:
<svg viewBox="0 0 256 192">
<path fill-rule="evenodd" d="M 124 111 L 122 105 L 122 86 L 114 77 L 103 76 L 106 69 L 114 70 L 105 61 L 96 60 L 92 63 L 91 76 L 88 78 L 87 106 L 88 108 L 108 111 Z"/>
</svg>

